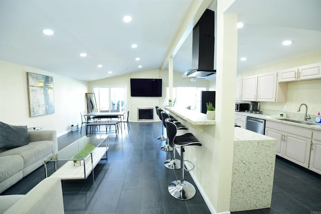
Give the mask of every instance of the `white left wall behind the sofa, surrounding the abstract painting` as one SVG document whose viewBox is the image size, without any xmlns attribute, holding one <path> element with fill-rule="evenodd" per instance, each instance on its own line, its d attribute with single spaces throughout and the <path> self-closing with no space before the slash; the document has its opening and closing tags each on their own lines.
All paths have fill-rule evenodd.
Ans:
<svg viewBox="0 0 321 214">
<path fill-rule="evenodd" d="M 29 117 L 27 72 L 53 77 L 55 113 Z M 0 61 L 0 77 L 1 121 L 56 130 L 58 136 L 70 131 L 71 123 L 81 123 L 80 111 L 86 108 L 87 82 L 6 61 Z"/>
</svg>

